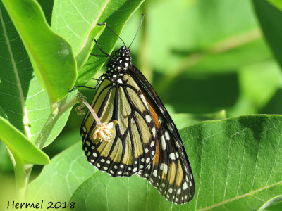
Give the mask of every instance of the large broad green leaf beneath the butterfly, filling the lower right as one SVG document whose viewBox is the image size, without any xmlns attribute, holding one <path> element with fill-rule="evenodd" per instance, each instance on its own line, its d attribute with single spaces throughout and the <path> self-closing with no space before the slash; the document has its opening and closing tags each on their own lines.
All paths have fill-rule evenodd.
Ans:
<svg viewBox="0 0 282 211">
<path fill-rule="evenodd" d="M 282 191 L 281 122 L 281 115 L 255 115 L 181 129 L 195 177 L 195 196 L 185 205 L 166 201 L 140 177 L 102 172 L 70 201 L 78 210 L 257 210 Z"/>
</svg>

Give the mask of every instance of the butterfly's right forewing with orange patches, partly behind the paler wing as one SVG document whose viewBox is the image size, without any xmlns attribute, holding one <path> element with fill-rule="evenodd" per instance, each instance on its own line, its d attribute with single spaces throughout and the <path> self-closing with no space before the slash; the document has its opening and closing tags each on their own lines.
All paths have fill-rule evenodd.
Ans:
<svg viewBox="0 0 282 211">
<path fill-rule="evenodd" d="M 187 203 L 194 196 L 194 179 L 180 134 L 153 87 L 134 66 L 129 74 L 145 96 L 157 128 L 157 149 L 154 160 L 137 174 L 146 178 L 167 200 Z"/>
</svg>

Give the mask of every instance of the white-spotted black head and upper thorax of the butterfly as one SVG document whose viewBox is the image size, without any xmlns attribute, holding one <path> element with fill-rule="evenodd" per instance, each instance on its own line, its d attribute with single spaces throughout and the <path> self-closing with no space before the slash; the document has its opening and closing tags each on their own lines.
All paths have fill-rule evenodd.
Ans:
<svg viewBox="0 0 282 211">
<path fill-rule="evenodd" d="M 116 51 L 114 58 L 111 58 L 106 65 L 107 72 L 109 73 L 120 73 L 128 70 L 130 67 L 130 50 L 126 46 L 121 46 L 121 48 Z"/>
</svg>

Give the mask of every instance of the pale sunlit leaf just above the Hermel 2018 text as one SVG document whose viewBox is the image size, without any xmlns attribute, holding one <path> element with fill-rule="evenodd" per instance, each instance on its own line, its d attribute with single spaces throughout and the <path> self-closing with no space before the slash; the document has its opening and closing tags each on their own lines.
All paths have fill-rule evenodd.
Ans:
<svg viewBox="0 0 282 211">
<path fill-rule="evenodd" d="M 39 177 L 28 186 L 27 198 L 35 201 L 67 201 L 78 186 L 96 171 L 96 168 L 87 162 L 80 141 L 51 159 Z"/>
</svg>

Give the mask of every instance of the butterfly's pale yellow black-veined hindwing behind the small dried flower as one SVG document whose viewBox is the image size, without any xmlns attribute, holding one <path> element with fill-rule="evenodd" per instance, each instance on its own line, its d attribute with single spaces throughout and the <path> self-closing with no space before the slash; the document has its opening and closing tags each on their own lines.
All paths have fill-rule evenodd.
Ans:
<svg viewBox="0 0 282 211">
<path fill-rule="evenodd" d="M 123 79 L 126 85 L 105 78 L 91 105 L 102 123 L 118 120 L 113 129 L 114 138 L 111 141 L 93 139 L 97 123 L 90 112 L 80 129 L 87 160 L 113 177 L 129 177 L 147 167 L 154 158 L 157 143 L 152 115 L 139 96 L 140 87 L 128 75 Z"/>
</svg>

